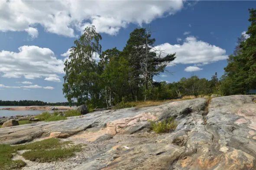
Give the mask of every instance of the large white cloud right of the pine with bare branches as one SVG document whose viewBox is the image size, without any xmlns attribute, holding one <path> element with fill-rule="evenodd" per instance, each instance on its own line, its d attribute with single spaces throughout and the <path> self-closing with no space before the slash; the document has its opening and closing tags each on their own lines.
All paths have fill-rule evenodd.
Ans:
<svg viewBox="0 0 256 170">
<path fill-rule="evenodd" d="M 195 37 L 187 37 L 183 44 L 161 44 L 156 49 L 165 50 L 162 57 L 176 53 L 176 59 L 171 64 L 208 64 L 228 58 L 226 50 Z"/>
</svg>

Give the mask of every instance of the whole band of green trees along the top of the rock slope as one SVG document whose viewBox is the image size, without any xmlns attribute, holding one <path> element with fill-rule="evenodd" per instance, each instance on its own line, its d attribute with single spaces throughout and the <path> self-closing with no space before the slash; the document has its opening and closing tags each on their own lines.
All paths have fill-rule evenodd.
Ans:
<svg viewBox="0 0 256 170">
<path fill-rule="evenodd" d="M 155 82 L 154 76 L 167 71 L 175 54 L 156 49 L 155 38 L 146 28 L 130 33 L 123 50 L 116 47 L 101 51 L 101 35 L 94 26 L 74 41 L 65 61 L 63 94 L 69 104 L 89 107 L 113 107 L 121 101 L 146 101 L 178 98 L 183 95 L 245 94 L 256 89 L 256 10 L 249 9 L 251 25 L 239 38 L 234 54 L 229 56 L 225 74 L 211 80 L 198 76 L 178 82 Z M 95 56 L 100 57 L 96 62 Z"/>
</svg>

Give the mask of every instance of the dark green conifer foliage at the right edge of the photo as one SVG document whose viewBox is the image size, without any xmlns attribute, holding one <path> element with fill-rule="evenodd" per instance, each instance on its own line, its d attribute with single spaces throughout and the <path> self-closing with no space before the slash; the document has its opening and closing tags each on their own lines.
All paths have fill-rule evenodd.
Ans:
<svg viewBox="0 0 256 170">
<path fill-rule="evenodd" d="M 224 68 L 220 91 L 224 95 L 245 94 L 249 89 L 256 89 L 256 9 L 249 9 L 251 25 L 246 39 L 242 35 L 233 55 L 228 58 Z"/>
</svg>

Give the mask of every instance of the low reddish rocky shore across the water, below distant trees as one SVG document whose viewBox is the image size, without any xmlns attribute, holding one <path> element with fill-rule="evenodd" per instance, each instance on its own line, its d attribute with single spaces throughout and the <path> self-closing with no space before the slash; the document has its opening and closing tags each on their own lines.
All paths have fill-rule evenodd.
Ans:
<svg viewBox="0 0 256 170">
<path fill-rule="evenodd" d="M 0 110 L 72 110 L 72 107 L 66 106 L 23 106 L 23 107 L 6 107 Z"/>
</svg>

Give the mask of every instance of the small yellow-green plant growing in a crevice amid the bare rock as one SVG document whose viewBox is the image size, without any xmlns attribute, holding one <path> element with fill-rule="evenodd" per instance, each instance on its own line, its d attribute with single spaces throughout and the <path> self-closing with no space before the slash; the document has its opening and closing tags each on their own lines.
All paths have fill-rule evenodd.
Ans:
<svg viewBox="0 0 256 170">
<path fill-rule="evenodd" d="M 164 132 L 170 132 L 172 130 L 175 130 L 178 122 L 174 120 L 173 117 L 170 117 L 167 120 L 163 120 L 162 122 L 155 122 L 152 120 L 149 120 L 149 130 L 152 130 L 156 133 L 164 133 Z"/>
</svg>

